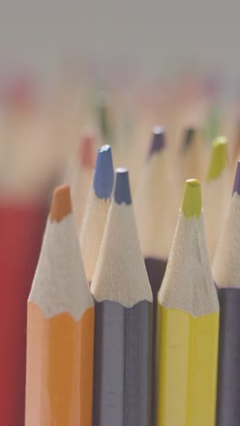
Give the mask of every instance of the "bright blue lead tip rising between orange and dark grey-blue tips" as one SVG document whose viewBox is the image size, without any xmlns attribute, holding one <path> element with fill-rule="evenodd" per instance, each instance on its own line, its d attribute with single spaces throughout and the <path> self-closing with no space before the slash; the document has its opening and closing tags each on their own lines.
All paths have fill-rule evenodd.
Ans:
<svg viewBox="0 0 240 426">
<path fill-rule="evenodd" d="M 115 180 L 112 149 L 104 145 L 98 149 L 95 162 L 94 189 L 97 198 L 111 198 Z"/>
</svg>

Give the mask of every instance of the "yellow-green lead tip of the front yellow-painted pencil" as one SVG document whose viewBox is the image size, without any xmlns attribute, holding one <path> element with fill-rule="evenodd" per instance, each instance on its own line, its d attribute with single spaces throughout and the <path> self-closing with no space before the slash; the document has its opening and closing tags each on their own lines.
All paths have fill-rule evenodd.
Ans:
<svg viewBox="0 0 240 426">
<path fill-rule="evenodd" d="M 199 218 L 202 213 L 201 186 L 197 179 L 188 179 L 185 182 L 185 192 L 182 204 L 185 218 Z"/>
</svg>

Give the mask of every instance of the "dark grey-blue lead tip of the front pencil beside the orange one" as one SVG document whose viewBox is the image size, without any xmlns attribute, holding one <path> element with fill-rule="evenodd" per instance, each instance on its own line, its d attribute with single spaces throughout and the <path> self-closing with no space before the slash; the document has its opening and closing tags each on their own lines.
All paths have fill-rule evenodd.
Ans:
<svg viewBox="0 0 240 426">
<path fill-rule="evenodd" d="M 117 204 L 132 204 L 128 170 L 126 168 L 117 168 L 115 170 L 115 202 Z"/>
</svg>

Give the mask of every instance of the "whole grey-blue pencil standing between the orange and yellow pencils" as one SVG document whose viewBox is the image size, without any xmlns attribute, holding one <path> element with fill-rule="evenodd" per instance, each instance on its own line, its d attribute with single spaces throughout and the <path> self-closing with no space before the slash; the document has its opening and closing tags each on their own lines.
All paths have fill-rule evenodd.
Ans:
<svg viewBox="0 0 240 426">
<path fill-rule="evenodd" d="M 153 297 L 125 168 L 116 170 L 114 199 L 91 289 L 95 298 L 94 425 L 150 425 Z"/>
</svg>

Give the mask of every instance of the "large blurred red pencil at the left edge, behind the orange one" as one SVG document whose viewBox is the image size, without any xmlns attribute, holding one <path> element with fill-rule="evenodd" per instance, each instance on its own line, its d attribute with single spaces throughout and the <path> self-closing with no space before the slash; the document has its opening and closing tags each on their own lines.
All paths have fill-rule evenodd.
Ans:
<svg viewBox="0 0 240 426">
<path fill-rule="evenodd" d="M 1 99 L 3 102 L 3 99 Z M 30 82 L 5 86 L 0 101 L 0 424 L 24 425 L 26 300 L 45 228 L 54 177 L 47 131 Z M 41 140 L 41 143 L 40 143 Z M 41 154 L 40 154 L 41 153 Z M 36 158 L 40 154 L 38 161 Z"/>
</svg>

